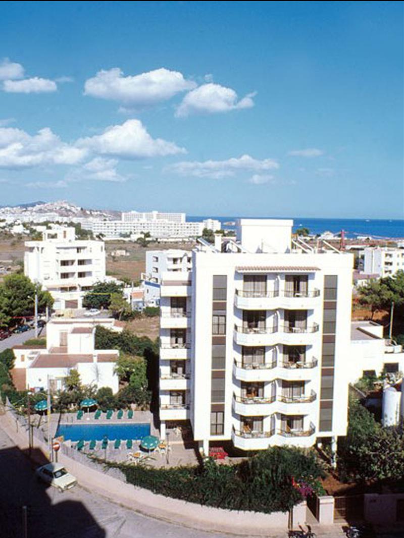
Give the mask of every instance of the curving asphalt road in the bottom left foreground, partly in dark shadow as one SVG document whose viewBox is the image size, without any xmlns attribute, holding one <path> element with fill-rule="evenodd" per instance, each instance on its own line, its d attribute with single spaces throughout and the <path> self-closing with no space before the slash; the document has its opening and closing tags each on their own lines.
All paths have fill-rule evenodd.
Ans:
<svg viewBox="0 0 404 538">
<path fill-rule="evenodd" d="M 222 538 L 148 518 L 75 486 L 59 493 L 38 482 L 26 456 L 0 429 L 1 538 Z M 27 506 L 24 535 L 23 506 Z M 228 536 L 228 535 L 227 535 Z M 282 538 L 285 538 L 285 533 Z"/>
</svg>

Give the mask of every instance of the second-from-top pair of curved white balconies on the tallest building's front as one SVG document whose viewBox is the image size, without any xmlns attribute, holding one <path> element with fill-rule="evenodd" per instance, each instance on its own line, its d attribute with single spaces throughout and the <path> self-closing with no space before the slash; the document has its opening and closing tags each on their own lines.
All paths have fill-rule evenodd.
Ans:
<svg viewBox="0 0 404 538">
<path fill-rule="evenodd" d="M 317 323 L 308 324 L 306 327 L 290 327 L 289 325 L 277 325 L 275 327 L 242 327 L 234 325 L 234 340 L 239 345 L 307 345 L 312 341 L 309 335 L 318 332 Z"/>
</svg>

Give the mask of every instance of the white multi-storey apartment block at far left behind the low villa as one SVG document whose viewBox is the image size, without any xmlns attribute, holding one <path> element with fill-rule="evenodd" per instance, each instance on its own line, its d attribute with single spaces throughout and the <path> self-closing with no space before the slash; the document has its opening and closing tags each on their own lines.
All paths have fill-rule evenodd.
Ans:
<svg viewBox="0 0 404 538">
<path fill-rule="evenodd" d="M 102 241 L 78 240 L 74 228 L 54 226 L 26 241 L 24 274 L 54 298 L 54 309 L 81 308 L 86 291 L 106 279 Z"/>
</svg>

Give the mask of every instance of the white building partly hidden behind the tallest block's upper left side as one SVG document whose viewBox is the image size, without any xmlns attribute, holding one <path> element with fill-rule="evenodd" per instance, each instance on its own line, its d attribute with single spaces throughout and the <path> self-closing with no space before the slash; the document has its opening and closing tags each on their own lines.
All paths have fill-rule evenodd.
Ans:
<svg viewBox="0 0 404 538">
<path fill-rule="evenodd" d="M 189 272 L 192 268 L 192 252 L 180 249 L 148 250 L 146 252 L 146 271 L 141 279 L 144 287 L 145 303 L 160 300 L 162 274 L 165 272 Z"/>
</svg>

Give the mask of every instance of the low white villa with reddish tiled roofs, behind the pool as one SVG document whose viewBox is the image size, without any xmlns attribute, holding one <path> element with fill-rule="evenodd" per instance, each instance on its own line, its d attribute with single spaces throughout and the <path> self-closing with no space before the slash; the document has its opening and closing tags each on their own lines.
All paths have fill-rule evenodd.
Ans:
<svg viewBox="0 0 404 538">
<path fill-rule="evenodd" d="M 12 377 L 20 390 L 37 388 L 61 390 L 65 378 L 74 369 L 80 374 L 83 385 L 97 388 L 110 387 L 119 390 L 119 378 L 115 373 L 118 350 L 95 349 L 95 327 L 114 329 L 115 320 L 102 318 L 55 319 L 46 325 L 46 349 L 17 345 Z"/>
</svg>

